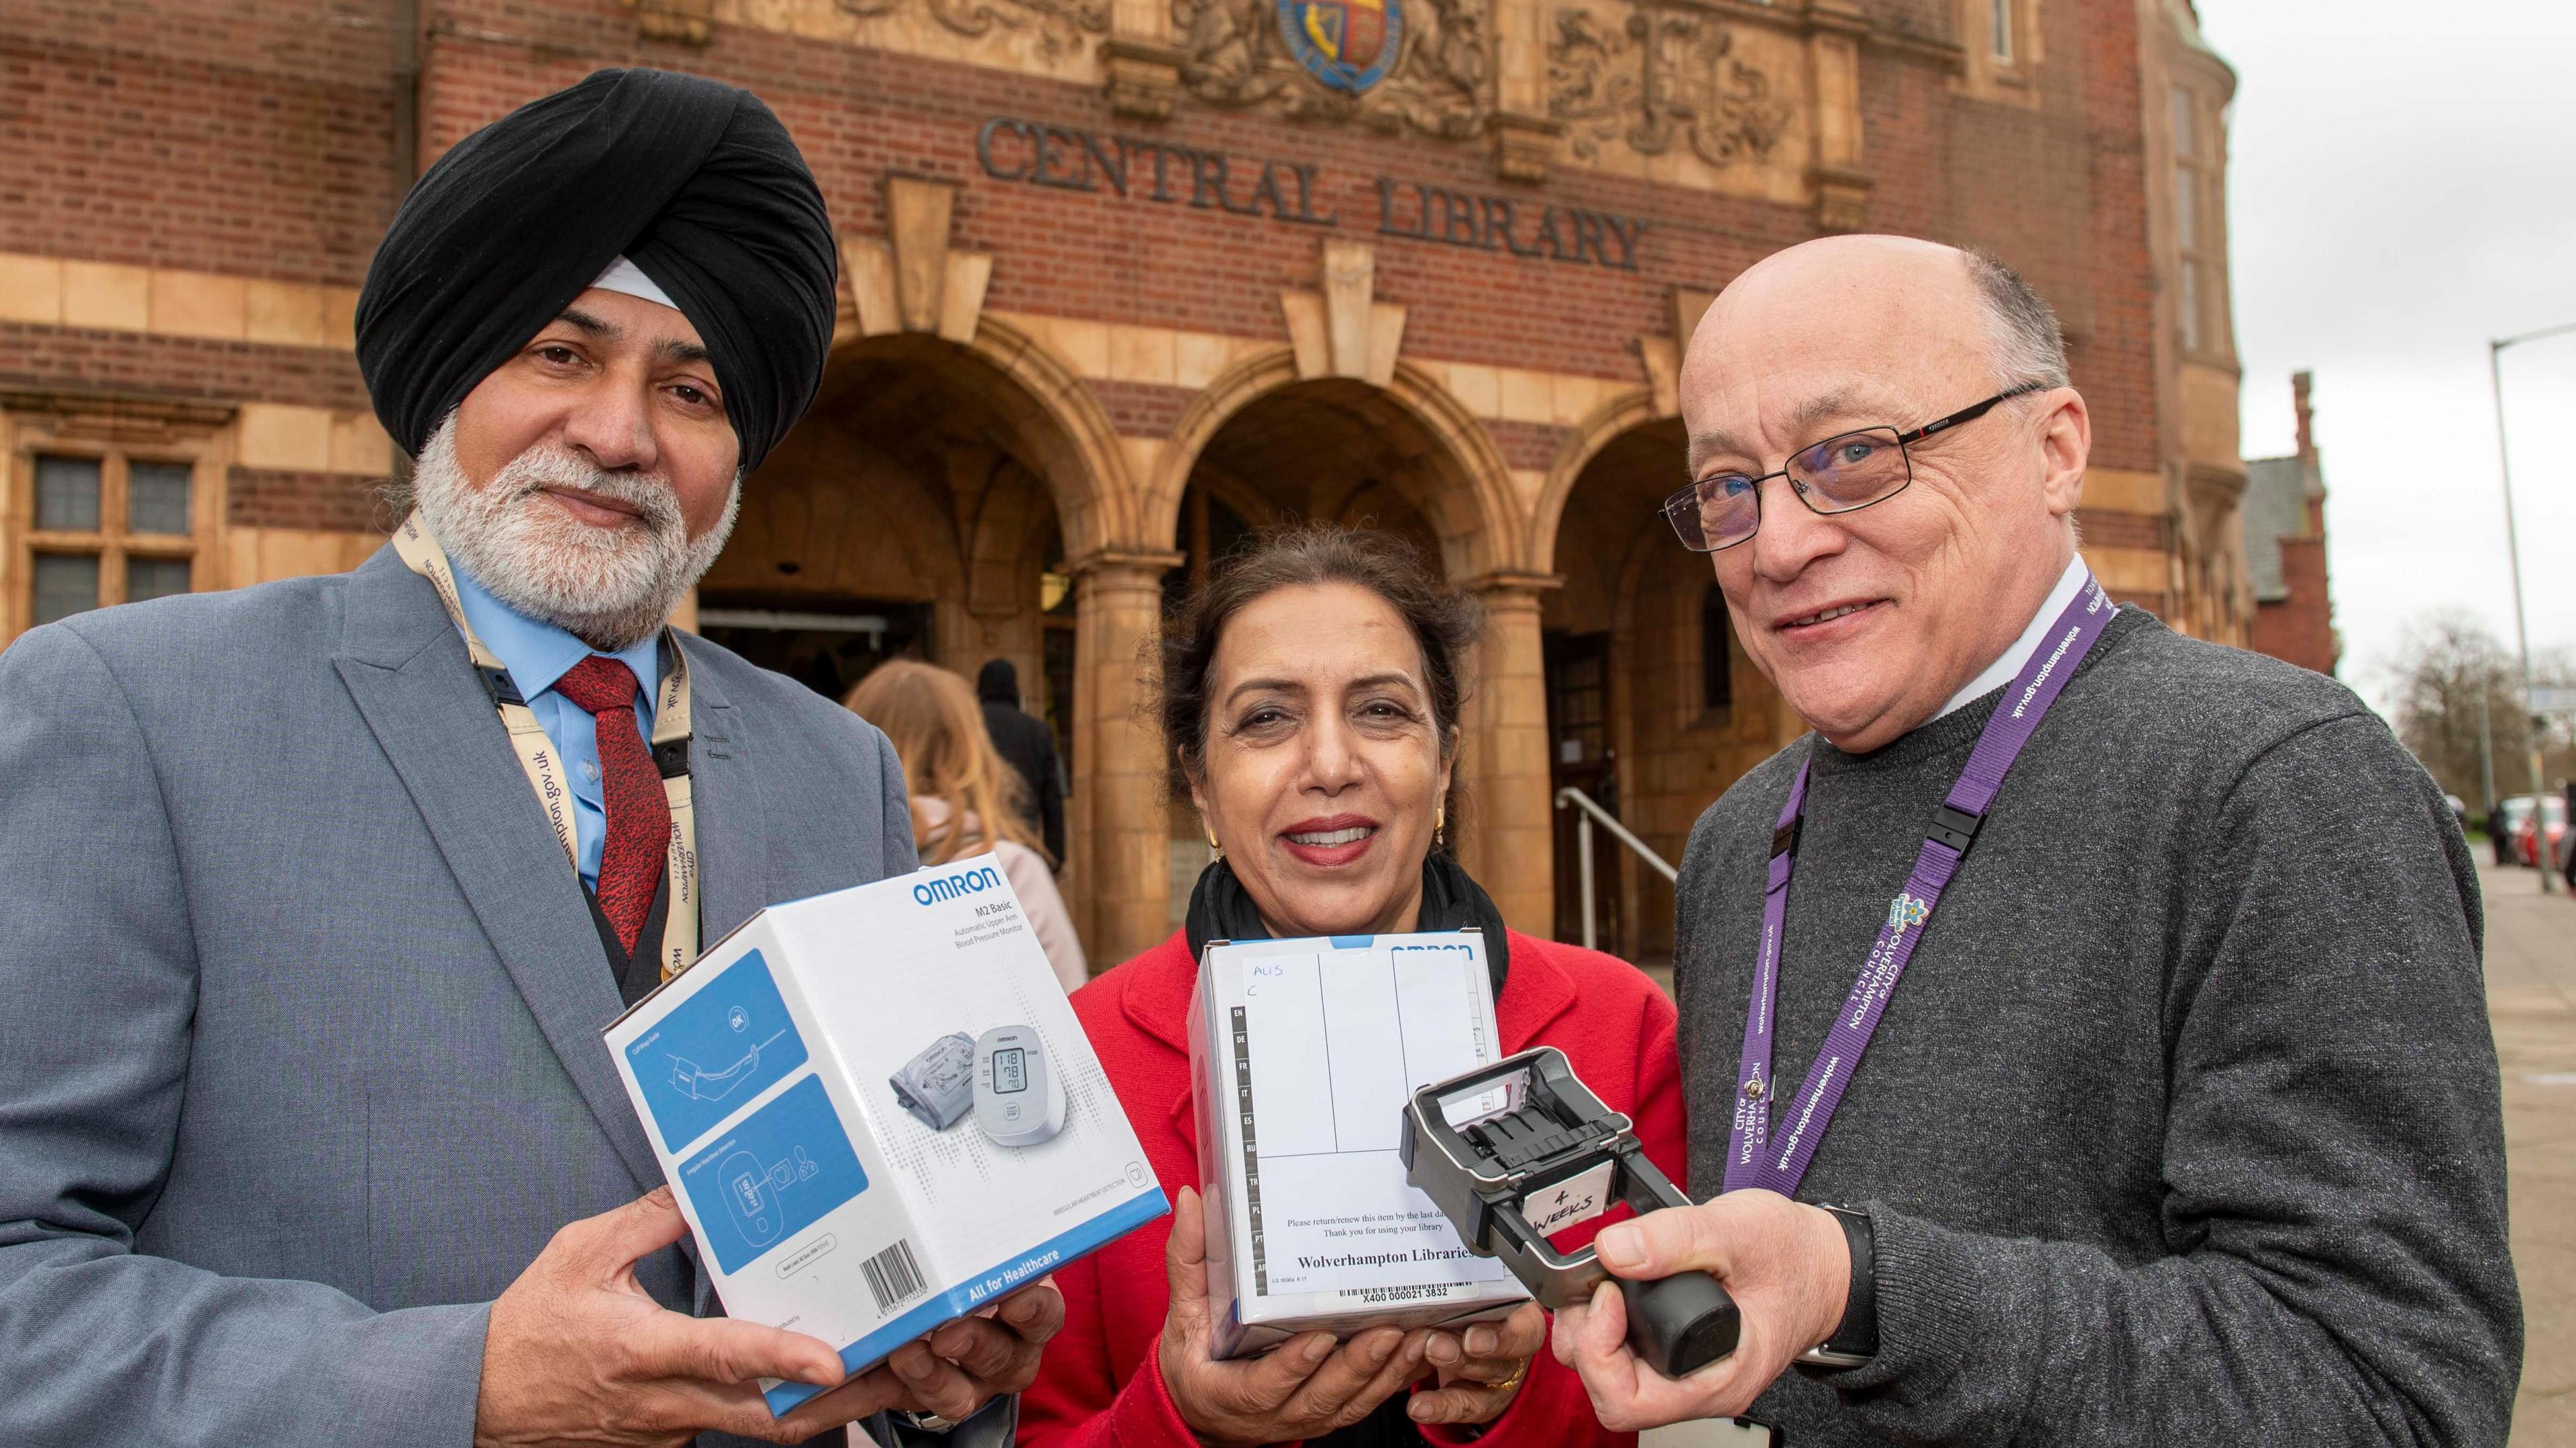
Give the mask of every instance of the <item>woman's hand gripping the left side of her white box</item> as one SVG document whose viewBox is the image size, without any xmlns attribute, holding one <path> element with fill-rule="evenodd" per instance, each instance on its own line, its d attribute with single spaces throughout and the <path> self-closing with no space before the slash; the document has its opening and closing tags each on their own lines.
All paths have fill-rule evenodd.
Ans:
<svg viewBox="0 0 2576 1448">
<path fill-rule="evenodd" d="M 1360 1422 L 1422 1376 L 1422 1345 L 1430 1332 L 1394 1327 L 1370 1327 L 1340 1348 L 1329 1332 L 1306 1332 L 1262 1358 L 1231 1363 L 1211 1358 L 1208 1221 L 1190 1188 L 1180 1188 L 1180 1203 L 1172 1206 L 1164 1273 L 1172 1281 L 1172 1306 L 1164 1311 L 1157 1348 L 1162 1386 L 1170 1389 L 1180 1420 L 1208 1443 L 1321 1438 Z M 1535 1340 L 1530 1350 L 1538 1350 Z"/>
</svg>

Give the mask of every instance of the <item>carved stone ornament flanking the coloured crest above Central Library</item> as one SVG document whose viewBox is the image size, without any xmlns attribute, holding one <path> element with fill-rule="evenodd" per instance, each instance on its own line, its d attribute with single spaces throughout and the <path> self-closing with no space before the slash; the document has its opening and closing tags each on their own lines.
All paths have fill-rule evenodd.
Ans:
<svg viewBox="0 0 2576 1448">
<path fill-rule="evenodd" d="M 1394 13 L 1396 5 L 1401 13 Z M 1298 121 L 1358 121 L 1383 134 L 1419 131 L 1455 142 L 1481 137 L 1494 111 L 1494 0 L 1386 0 L 1386 8 L 1391 15 L 1383 33 L 1396 44 L 1394 59 L 1378 57 L 1350 75 L 1321 75 L 1291 52 L 1283 26 L 1332 5 L 1172 0 L 1180 82 L 1211 106 L 1260 106 Z M 1347 31 L 1319 26 L 1319 33 Z M 1352 88 L 1358 80 L 1365 85 Z"/>
</svg>

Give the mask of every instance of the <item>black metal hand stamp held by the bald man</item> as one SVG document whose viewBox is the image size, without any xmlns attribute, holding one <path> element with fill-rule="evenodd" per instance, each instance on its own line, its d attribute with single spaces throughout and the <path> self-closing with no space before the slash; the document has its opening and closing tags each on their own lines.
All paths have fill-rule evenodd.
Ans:
<svg viewBox="0 0 2576 1448">
<path fill-rule="evenodd" d="M 1499 1105 L 1497 1105 L 1499 1103 Z M 1708 1273 L 1631 1283 L 1592 1247 L 1548 1237 L 1625 1201 L 1638 1214 L 1690 1206 L 1633 1123 L 1602 1105 L 1556 1046 L 1432 1082 L 1404 1105 L 1406 1180 L 1422 1188 L 1479 1257 L 1499 1257 L 1551 1311 L 1592 1301 L 1615 1281 L 1628 1299 L 1628 1348 L 1667 1378 L 1736 1350 L 1736 1304 Z"/>
</svg>

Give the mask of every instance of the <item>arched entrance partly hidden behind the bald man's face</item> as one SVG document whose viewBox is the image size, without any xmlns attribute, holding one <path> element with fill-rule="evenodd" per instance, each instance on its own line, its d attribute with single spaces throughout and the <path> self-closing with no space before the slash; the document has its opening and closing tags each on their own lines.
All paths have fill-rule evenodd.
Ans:
<svg viewBox="0 0 2576 1448">
<path fill-rule="evenodd" d="M 1736 642 L 1705 554 L 1659 508 L 1687 482 L 1680 417 L 1610 410 L 1553 474 L 1556 572 L 1543 605 L 1548 765 L 1680 866 L 1690 827 L 1785 734 L 1780 703 Z M 1556 812 L 1556 930 L 1582 938 L 1574 812 Z M 1605 951 L 1672 961 L 1672 886 L 1595 832 L 1595 930 Z"/>
</svg>

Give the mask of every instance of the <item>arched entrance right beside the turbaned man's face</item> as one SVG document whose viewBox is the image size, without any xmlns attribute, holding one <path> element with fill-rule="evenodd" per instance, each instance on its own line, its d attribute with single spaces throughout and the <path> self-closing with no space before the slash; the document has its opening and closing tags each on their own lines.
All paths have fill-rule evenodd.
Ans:
<svg viewBox="0 0 2576 1448">
<path fill-rule="evenodd" d="M 969 678 L 1010 660 L 1084 801 L 1079 605 L 1069 557 L 1095 546 L 1108 490 L 1082 399 L 1030 384 L 1036 358 L 987 327 L 974 348 L 889 335 L 835 348 L 804 423 L 744 482 L 698 626 L 840 698 L 891 657 Z M 1100 425 L 1100 435 L 1108 435 Z M 1066 897 L 1090 855 L 1079 809 Z"/>
</svg>

